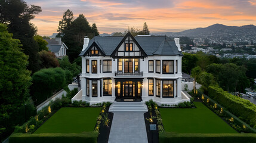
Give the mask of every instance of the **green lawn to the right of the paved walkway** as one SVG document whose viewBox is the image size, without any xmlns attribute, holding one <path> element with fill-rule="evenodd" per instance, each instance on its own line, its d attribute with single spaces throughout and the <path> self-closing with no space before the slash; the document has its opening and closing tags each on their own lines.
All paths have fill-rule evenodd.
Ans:
<svg viewBox="0 0 256 143">
<path fill-rule="evenodd" d="M 201 102 L 197 108 L 159 108 L 166 132 L 237 133 Z"/>
</svg>

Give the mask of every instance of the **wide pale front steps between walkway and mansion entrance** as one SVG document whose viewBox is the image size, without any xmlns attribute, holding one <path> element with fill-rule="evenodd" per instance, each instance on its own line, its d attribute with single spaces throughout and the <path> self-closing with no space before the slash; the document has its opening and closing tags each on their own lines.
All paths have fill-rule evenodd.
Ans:
<svg viewBox="0 0 256 143">
<path fill-rule="evenodd" d="M 113 102 L 109 111 L 144 111 L 147 112 L 147 105 L 143 102 Z"/>
</svg>

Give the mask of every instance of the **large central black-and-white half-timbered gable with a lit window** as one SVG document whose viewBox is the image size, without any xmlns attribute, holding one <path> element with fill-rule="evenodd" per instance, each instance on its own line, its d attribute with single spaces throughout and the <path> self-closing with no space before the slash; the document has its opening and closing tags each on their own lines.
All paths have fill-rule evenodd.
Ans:
<svg viewBox="0 0 256 143">
<path fill-rule="evenodd" d="M 141 48 L 140 44 L 135 40 L 130 32 L 125 35 L 122 41 L 110 55 L 113 58 L 145 58 L 146 52 Z"/>
</svg>

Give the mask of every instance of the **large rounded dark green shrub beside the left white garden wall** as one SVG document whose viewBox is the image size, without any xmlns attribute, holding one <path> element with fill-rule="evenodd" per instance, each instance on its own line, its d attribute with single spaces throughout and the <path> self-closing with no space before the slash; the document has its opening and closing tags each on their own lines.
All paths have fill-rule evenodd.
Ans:
<svg viewBox="0 0 256 143">
<path fill-rule="evenodd" d="M 60 67 L 42 69 L 33 74 L 32 83 L 31 95 L 39 105 L 66 86 L 66 72 Z"/>
</svg>

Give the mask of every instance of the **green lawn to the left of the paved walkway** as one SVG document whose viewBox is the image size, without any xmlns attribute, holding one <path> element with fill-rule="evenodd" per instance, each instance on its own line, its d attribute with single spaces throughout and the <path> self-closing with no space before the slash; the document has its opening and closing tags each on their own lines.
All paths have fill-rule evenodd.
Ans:
<svg viewBox="0 0 256 143">
<path fill-rule="evenodd" d="M 101 108 L 61 108 L 35 133 L 82 133 L 94 130 Z"/>
</svg>

